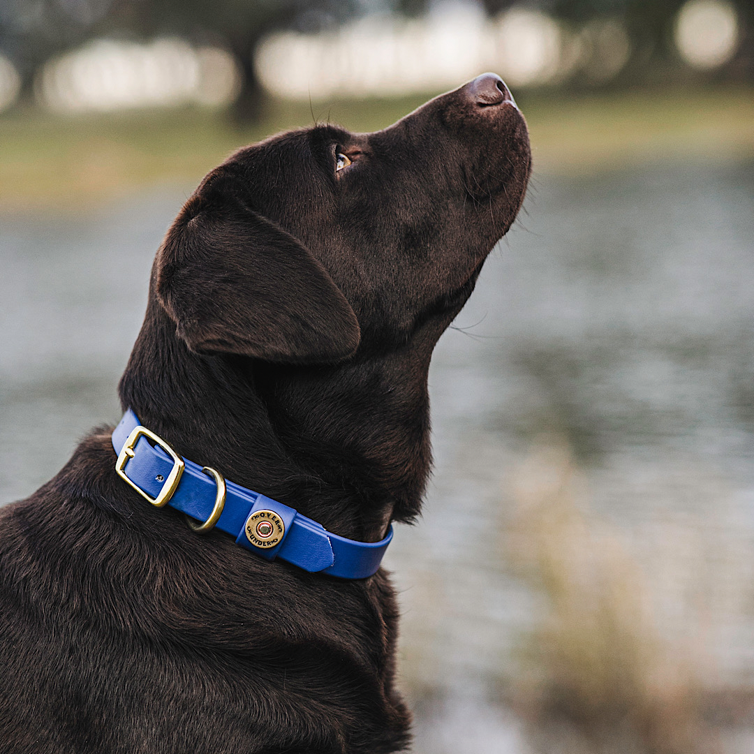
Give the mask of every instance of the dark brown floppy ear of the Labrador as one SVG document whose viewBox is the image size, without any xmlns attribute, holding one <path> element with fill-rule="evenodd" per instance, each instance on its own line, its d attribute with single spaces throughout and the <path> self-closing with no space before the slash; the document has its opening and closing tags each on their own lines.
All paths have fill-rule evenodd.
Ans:
<svg viewBox="0 0 754 754">
<path fill-rule="evenodd" d="M 157 296 L 177 335 L 201 354 L 284 363 L 351 356 L 359 323 L 323 265 L 246 207 L 231 179 L 216 177 L 185 204 L 155 262 Z"/>
</svg>

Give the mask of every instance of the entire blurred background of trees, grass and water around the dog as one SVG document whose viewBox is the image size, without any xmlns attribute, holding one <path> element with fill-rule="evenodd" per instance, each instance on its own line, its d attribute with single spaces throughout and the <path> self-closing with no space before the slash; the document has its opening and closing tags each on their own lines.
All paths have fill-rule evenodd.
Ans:
<svg viewBox="0 0 754 754">
<path fill-rule="evenodd" d="M 749 754 L 749 0 L 2 0 L 0 501 L 117 421 L 207 170 L 485 70 L 535 170 L 438 345 L 437 472 L 388 553 L 415 752 Z"/>
</svg>

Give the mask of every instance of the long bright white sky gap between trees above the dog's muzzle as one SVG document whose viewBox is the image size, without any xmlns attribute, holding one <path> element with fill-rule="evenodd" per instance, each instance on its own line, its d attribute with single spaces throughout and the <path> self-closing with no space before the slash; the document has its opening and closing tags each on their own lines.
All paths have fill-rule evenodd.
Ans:
<svg viewBox="0 0 754 754">
<path fill-rule="evenodd" d="M 390 96 L 457 86 L 486 70 L 514 86 L 544 83 L 561 47 L 561 29 L 544 14 L 513 8 L 486 20 L 455 5 L 425 19 L 367 17 L 324 35 L 280 32 L 262 43 L 256 66 L 281 97 Z"/>
</svg>

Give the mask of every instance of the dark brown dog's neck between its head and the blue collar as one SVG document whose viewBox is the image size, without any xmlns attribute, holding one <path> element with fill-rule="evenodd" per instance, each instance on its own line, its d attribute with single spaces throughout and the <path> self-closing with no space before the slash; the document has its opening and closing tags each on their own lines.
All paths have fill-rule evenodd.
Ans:
<svg viewBox="0 0 754 754">
<path fill-rule="evenodd" d="M 150 297 L 119 391 L 177 452 L 348 538 L 378 541 L 418 514 L 439 333 L 339 365 L 282 366 L 194 354 L 175 330 Z"/>
</svg>

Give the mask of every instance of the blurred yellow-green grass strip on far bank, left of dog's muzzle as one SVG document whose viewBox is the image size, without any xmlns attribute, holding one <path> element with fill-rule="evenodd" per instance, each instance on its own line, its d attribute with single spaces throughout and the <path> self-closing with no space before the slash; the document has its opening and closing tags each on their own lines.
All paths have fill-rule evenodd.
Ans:
<svg viewBox="0 0 754 754">
<path fill-rule="evenodd" d="M 425 100 L 334 105 L 271 102 L 240 129 L 224 112 L 198 108 L 55 116 L 36 110 L 0 117 L 0 211 L 82 211 L 138 189 L 191 189 L 231 152 L 268 134 L 314 121 L 372 130 Z"/>
</svg>

